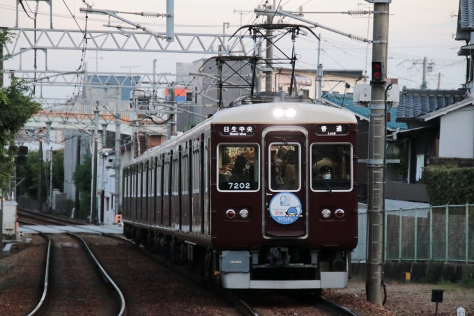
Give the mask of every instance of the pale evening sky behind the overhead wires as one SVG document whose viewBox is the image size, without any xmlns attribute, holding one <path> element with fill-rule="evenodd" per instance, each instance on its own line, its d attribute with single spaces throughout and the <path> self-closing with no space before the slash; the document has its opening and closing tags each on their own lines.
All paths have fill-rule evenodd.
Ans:
<svg viewBox="0 0 474 316">
<path fill-rule="evenodd" d="M 36 1 L 24 1 L 31 10 L 35 10 Z M 89 1 L 91 4 L 92 2 Z M 16 0 L 0 1 L 0 27 L 15 26 Z M 175 1 L 175 32 L 176 33 L 222 33 L 222 24 L 229 22 L 226 33 L 234 33 L 242 24 L 261 22 L 262 17 L 255 17 L 253 10 L 262 5 L 261 0 L 176 0 Z M 269 0 L 272 4 L 273 0 Z M 283 10 L 340 12 L 348 10 L 369 10 L 372 5 L 363 0 L 277 0 Z M 151 0 L 96 0 L 93 8 L 121 11 L 155 11 L 166 12 L 166 1 Z M 53 1 L 53 24 L 55 29 L 78 29 L 77 24 L 84 28 L 84 14 L 79 13 L 83 7 L 82 0 Z M 26 10 L 29 11 L 28 6 Z M 77 24 L 68 9 L 75 15 Z M 427 74 L 428 88 L 436 89 L 438 78 L 442 89 L 457 89 L 465 80 L 466 61 L 457 56 L 463 42 L 454 40 L 457 26 L 457 0 L 394 0 L 390 4 L 390 26 L 388 37 L 388 77 L 398 78 L 399 86 L 420 88 L 422 84 L 422 60 L 427 57 L 432 63 L 432 71 Z M 40 13 L 49 12 L 44 1 L 39 3 Z M 240 14 L 240 11 L 242 12 Z M 32 15 L 29 12 L 29 15 Z M 155 31 L 165 32 L 165 19 L 145 18 L 139 15 L 122 15 L 134 22 L 144 24 Z M 305 19 L 318 22 L 344 33 L 372 39 L 372 15 L 352 16 L 347 14 L 306 14 Z M 277 17 L 275 17 L 277 19 Z M 285 18 L 284 23 L 294 23 Z M 107 18 L 102 15 L 89 15 L 88 29 L 105 30 L 102 24 Z M 114 22 L 112 24 L 123 24 Z M 299 22 L 298 22 L 299 23 Z M 33 20 L 26 16 L 20 6 L 20 27 L 33 27 Z M 38 28 L 49 28 L 49 17 L 38 15 Z M 372 45 L 357 42 L 321 28 L 313 29 L 321 33 L 321 63 L 327 70 L 369 70 L 372 61 Z M 282 40 L 282 47 L 291 49 L 291 40 Z M 312 35 L 300 35 L 296 39 L 296 52 L 300 56 L 297 68 L 315 69 L 317 64 L 318 41 Z M 44 55 L 38 53 L 38 70 L 45 67 Z M 33 53 L 27 52 L 22 57 L 22 69 L 33 69 Z M 89 70 L 95 70 L 96 62 L 99 71 L 105 72 L 152 72 L 153 59 L 158 59 L 157 72 L 176 72 L 176 63 L 191 63 L 200 58 L 211 57 L 211 54 L 172 54 L 172 53 L 130 53 L 130 52 L 86 52 Z M 96 59 L 98 57 L 98 59 Z M 80 64 L 81 54 L 78 51 L 50 50 L 47 56 L 49 70 L 75 70 Z M 5 69 L 18 69 L 20 57 L 6 61 Z M 369 71 L 370 72 L 370 71 Z M 441 73 L 441 75 L 440 75 Z M 54 92 L 49 92 L 54 94 Z M 57 94 L 56 90 L 56 94 Z M 72 93 L 61 89 L 61 93 Z M 62 97 L 62 95 L 61 95 Z"/>
</svg>

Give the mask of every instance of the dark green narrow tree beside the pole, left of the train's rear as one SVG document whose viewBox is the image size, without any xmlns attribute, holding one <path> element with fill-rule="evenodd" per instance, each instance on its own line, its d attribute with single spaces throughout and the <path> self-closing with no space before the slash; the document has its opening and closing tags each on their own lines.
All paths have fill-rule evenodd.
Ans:
<svg viewBox="0 0 474 316">
<path fill-rule="evenodd" d="M 82 163 L 76 166 L 72 180 L 79 190 L 79 211 L 76 210 L 79 219 L 87 219 L 91 210 L 91 181 L 92 181 L 92 156 L 85 155 Z"/>
</svg>

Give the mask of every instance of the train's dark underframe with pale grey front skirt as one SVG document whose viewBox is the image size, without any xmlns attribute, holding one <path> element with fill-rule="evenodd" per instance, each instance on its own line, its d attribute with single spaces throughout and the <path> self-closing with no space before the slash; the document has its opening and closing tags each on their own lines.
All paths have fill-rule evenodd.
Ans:
<svg viewBox="0 0 474 316">
<path fill-rule="evenodd" d="M 284 241 L 281 246 L 216 250 L 130 223 L 123 235 L 229 289 L 344 288 L 350 278 L 351 250 L 309 249 Z"/>
</svg>

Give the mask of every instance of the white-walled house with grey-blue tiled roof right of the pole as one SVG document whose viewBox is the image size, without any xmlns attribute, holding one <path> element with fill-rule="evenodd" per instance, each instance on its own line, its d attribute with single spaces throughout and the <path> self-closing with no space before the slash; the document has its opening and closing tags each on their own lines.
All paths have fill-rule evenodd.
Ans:
<svg viewBox="0 0 474 316">
<path fill-rule="evenodd" d="M 392 138 L 407 141 L 408 183 L 422 183 L 422 168 L 440 159 L 474 158 L 473 101 L 465 88 L 400 92 L 396 120 L 408 129 Z"/>
</svg>

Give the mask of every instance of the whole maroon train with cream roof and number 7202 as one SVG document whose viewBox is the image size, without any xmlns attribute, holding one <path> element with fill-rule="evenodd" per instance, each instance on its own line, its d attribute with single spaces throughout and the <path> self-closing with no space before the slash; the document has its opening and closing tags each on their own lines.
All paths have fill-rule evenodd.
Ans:
<svg viewBox="0 0 474 316">
<path fill-rule="evenodd" d="M 222 109 L 123 167 L 124 234 L 226 288 L 346 287 L 356 139 L 344 109 Z"/>
</svg>

